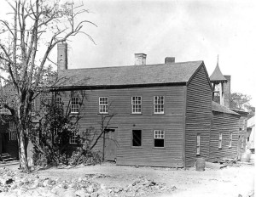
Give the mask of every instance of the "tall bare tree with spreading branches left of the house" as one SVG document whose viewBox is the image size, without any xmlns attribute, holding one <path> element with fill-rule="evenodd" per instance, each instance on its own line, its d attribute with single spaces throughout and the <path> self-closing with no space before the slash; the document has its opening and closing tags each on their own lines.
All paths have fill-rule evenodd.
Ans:
<svg viewBox="0 0 256 197">
<path fill-rule="evenodd" d="M 79 14 L 88 12 L 72 3 L 62 4 L 49 0 L 14 0 L 9 3 L 11 20 L 0 20 L 0 69 L 8 73 L 0 76 L 13 88 L 12 102 L 3 106 L 15 118 L 19 136 L 20 166 L 29 171 L 26 146 L 28 142 L 30 110 L 32 101 L 38 96 L 38 87 L 48 76 L 49 53 L 59 42 L 83 33 L 83 25 L 92 22 L 76 22 Z M 5 37 L 5 39 L 4 39 Z M 93 40 L 92 40 L 93 41 Z M 41 49 L 43 53 L 39 53 Z"/>
</svg>

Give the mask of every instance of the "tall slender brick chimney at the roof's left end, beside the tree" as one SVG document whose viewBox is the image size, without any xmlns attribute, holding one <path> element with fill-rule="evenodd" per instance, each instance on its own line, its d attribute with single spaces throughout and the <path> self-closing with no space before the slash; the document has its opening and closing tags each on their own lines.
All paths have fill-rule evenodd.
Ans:
<svg viewBox="0 0 256 197">
<path fill-rule="evenodd" d="M 58 43 L 58 72 L 60 70 L 67 70 L 67 43 L 66 42 L 62 42 L 62 43 Z"/>
</svg>

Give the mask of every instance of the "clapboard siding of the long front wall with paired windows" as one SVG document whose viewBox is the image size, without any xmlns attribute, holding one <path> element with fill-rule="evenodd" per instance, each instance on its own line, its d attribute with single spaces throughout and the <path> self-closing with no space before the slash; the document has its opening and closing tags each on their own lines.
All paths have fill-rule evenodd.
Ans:
<svg viewBox="0 0 256 197">
<path fill-rule="evenodd" d="M 99 97 L 108 97 L 109 114 L 115 114 L 110 127 L 117 127 L 117 164 L 142 166 L 183 166 L 183 115 L 185 87 L 133 87 L 84 90 L 79 128 L 100 130 Z M 78 92 L 79 93 L 79 92 Z M 61 93 L 64 105 L 70 92 Z M 142 115 L 131 114 L 131 97 L 142 96 Z M 154 115 L 154 96 L 165 97 L 165 114 Z M 142 130 L 142 147 L 131 147 L 132 130 Z M 154 148 L 154 130 L 165 131 L 165 148 Z M 102 151 L 102 140 L 96 149 Z"/>
</svg>

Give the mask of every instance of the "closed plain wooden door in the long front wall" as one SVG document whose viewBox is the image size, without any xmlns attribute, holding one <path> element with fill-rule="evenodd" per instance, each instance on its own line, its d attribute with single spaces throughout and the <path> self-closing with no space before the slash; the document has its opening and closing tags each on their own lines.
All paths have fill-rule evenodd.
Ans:
<svg viewBox="0 0 256 197">
<path fill-rule="evenodd" d="M 106 129 L 104 133 L 104 160 L 116 159 L 116 132 L 114 129 Z"/>
</svg>

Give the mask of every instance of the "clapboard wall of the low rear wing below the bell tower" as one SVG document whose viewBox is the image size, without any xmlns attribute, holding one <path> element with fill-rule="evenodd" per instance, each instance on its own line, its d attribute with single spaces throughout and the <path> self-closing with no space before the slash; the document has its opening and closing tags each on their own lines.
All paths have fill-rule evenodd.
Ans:
<svg viewBox="0 0 256 197">
<path fill-rule="evenodd" d="M 222 158 L 236 158 L 238 143 L 239 115 L 212 112 L 212 128 L 210 138 L 209 160 Z M 219 133 L 222 134 L 222 148 L 218 148 Z M 232 132 L 232 146 L 229 147 L 230 132 Z"/>
</svg>

